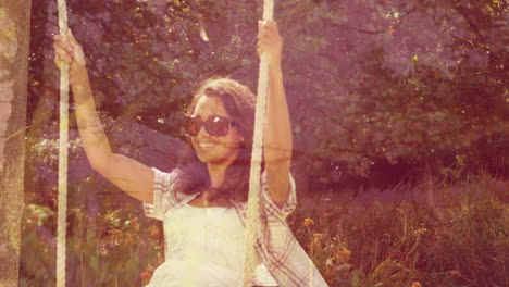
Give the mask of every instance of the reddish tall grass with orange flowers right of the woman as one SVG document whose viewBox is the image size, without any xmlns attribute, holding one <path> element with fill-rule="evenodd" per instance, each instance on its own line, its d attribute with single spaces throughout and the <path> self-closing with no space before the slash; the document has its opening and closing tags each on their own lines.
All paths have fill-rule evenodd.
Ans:
<svg viewBox="0 0 509 287">
<path fill-rule="evenodd" d="M 436 210 L 332 194 L 290 226 L 331 286 L 505 286 L 507 190 L 489 177 L 434 189 Z"/>
</svg>

